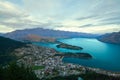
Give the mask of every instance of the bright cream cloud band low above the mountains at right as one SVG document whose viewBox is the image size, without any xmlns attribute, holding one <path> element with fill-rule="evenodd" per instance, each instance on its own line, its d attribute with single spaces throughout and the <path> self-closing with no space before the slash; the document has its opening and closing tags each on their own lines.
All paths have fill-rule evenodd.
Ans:
<svg viewBox="0 0 120 80">
<path fill-rule="evenodd" d="M 69 27 L 66 29 L 66 27 L 56 27 L 56 30 L 65 30 L 65 31 L 73 31 L 73 32 L 85 32 L 85 33 L 94 33 L 94 34 L 104 34 L 104 33 L 110 33 L 110 32 L 118 32 L 120 31 L 120 27 L 116 25 L 104 25 L 104 26 L 93 26 L 93 27 Z"/>
</svg>

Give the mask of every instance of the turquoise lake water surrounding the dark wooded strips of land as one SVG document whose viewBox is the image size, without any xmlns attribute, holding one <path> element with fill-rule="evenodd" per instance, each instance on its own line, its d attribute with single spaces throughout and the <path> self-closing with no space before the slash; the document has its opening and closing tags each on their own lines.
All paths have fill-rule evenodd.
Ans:
<svg viewBox="0 0 120 80">
<path fill-rule="evenodd" d="M 64 62 L 80 64 L 88 67 L 101 68 L 108 71 L 120 72 L 120 45 L 103 43 L 96 39 L 71 38 L 58 41 L 70 45 L 80 46 L 83 50 L 68 50 L 57 48 L 54 43 L 34 42 L 33 44 L 54 48 L 59 52 L 86 52 L 92 59 L 64 58 Z"/>
</svg>

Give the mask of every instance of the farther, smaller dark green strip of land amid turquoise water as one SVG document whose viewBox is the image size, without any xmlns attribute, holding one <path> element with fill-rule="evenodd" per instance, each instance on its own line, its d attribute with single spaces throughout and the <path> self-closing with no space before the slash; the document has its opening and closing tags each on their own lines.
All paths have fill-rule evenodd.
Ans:
<svg viewBox="0 0 120 80">
<path fill-rule="evenodd" d="M 65 43 L 60 43 L 56 46 L 57 48 L 65 48 L 65 49 L 72 49 L 72 50 L 82 50 L 82 47 L 78 47 L 78 46 L 73 46 L 73 45 L 69 45 L 69 44 L 65 44 Z"/>
</svg>

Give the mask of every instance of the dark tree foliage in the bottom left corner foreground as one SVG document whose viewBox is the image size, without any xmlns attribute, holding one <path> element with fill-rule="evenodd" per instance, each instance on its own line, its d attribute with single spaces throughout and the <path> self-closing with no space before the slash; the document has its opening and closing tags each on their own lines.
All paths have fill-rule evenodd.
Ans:
<svg viewBox="0 0 120 80">
<path fill-rule="evenodd" d="M 0 67 L 0 80 L 39 80 L 30 67 L 10 63 Z"/>
</svg>

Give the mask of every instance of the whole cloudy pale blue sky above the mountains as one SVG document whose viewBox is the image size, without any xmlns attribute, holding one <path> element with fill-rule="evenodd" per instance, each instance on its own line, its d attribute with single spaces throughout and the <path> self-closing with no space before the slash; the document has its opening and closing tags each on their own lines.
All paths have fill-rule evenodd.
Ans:
<svg viewBox="0 0 120 80">
<path fill-rule="evenodd" d="M 0 33 L 28 28 L 120 31 L 120 0 L 0 0 Z"/>
</svg>

